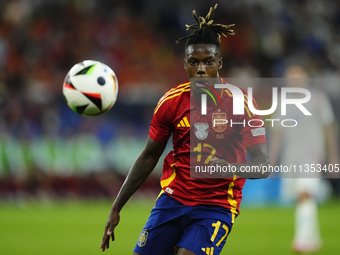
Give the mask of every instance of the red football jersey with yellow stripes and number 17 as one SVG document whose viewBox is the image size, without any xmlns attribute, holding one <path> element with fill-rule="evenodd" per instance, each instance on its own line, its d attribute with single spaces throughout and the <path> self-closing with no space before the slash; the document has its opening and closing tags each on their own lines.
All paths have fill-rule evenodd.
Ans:
<svg viewBox="0 0 340 255">
<path fill-rule="evenodd" d="M 254 126 L 261 125 L 261 117 L 249 111 L 245 91 L 244 115 L 233 115 L 229 90 L 219 93 L 222 105 L 210 102 L 207 114 L 202 115 L 200 102 L 191 96 L 190 82 L 172 88 L 155 108 L 149 136 L 161 142 L 173 134 L 173 150 L 163 165 L 162 192 L 185 205 L 219 205 L 236 215 L 245 179 L 202 178 L 205 175 L 201 173 L 193 175 L 195 167 L 209 165 L 212 156 L 230 163 L 247 162 L 246 147 L 266 143 L 266 138 L 264 132 L 254 132 L 259 130 Z M 252 103 L 258 108 L 255 100 Z M 249 120 L 253 127 L 248 125 Z"/>
</svg>

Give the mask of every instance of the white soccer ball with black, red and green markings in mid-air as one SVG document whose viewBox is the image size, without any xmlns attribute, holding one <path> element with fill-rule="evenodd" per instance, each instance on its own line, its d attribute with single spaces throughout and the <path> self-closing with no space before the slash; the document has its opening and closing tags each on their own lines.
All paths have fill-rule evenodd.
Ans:
<svg viewBox="0 0 340 255">
<path fill-rule="evenodd" d="M 83 116 L 107 112 L 115 104 L 118 94 L 116 74 L 107 65 L 85 60 L 67 73 L 63 94 L 68 106 Z"/>
</svg>

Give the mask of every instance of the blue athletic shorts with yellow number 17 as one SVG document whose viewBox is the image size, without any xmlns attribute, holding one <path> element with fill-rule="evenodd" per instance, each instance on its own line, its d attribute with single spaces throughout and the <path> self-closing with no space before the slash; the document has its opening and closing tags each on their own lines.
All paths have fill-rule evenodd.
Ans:
<svg viewBox="0 0 340 255">
<path fill-rule="evenodd" d="M 218 255 L 232 222 L 232 213 L 221 206 L 187 206 L 164 193 L 156 201 L 134 252 L 173 255 L 175 247 L 182 247 L 196 255 Z"/>
</svg>

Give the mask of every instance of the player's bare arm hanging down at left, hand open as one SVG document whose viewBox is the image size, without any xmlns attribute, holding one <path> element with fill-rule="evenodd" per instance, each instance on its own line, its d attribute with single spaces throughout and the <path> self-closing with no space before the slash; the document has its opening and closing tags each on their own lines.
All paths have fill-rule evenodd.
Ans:
<svg viewBox="0 0 340 255">
<path fill-rule="evenodd" d="M 113 232 L 114 228 L 119 223 L 120 210 L 153 171 L 166 147 L 166 144 L 167 140 L 157 142 L 150 137 L 148 138 L 145 148 L 132 165 L 122 187 L 120 188 L 116 200 L 112 204 L 109 217 L 105 225 L 102 243 L 100 245 L 102 251 L 109 248 L 110 236 L 112 241 L 114 241 Z"/>
</svg>

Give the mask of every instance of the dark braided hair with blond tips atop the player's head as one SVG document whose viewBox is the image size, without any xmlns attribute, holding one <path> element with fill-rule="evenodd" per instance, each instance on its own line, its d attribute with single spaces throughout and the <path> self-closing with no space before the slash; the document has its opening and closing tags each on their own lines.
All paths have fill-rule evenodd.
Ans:
<svg viewBox="0 0 340 255">
<path fill-rule="evenodd" d="M 218 49 L 220 49 L 221 35 L 225 37 L 227 37 L 227 35 L 234 35 L 234 30 L 230 29 L 230 27 L 234 26 L 235 24 L 214 24 L 212 18 L 215 14 L 216 8 L 217 4 L 214 6 L 214 8 L 210 7 L 209 13 L 205 18 L 197 17 L 196 11 L 194 10 L 192 15 L 196 21 L 196 24 L 186 25 L 186 27 L 187 30 L 194 29 L 195 31 L 190 35 L 178 39 L 176 43 L 187 40 L 185 47 L 188 47 L 192 44 L 204 43 L 214 44 L 218 47 Z"/>
</svg>

